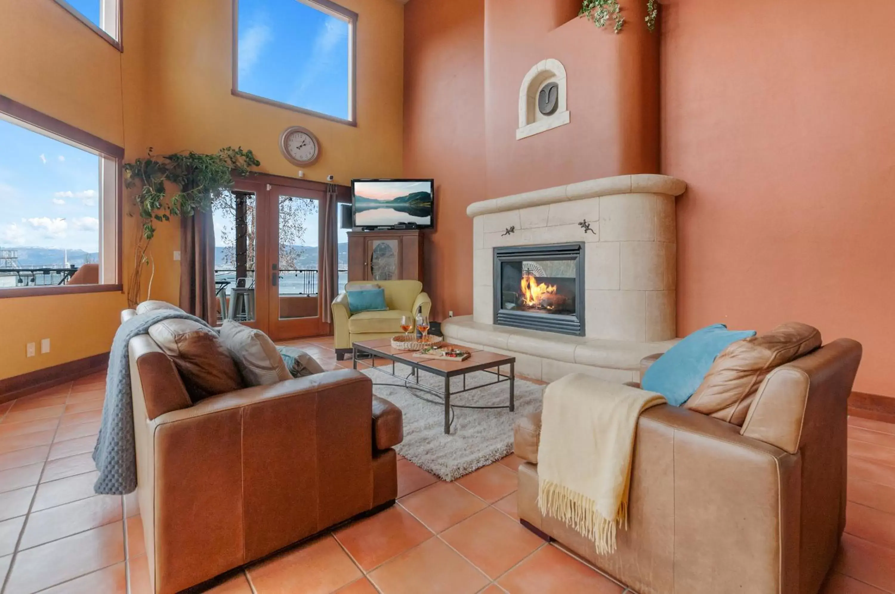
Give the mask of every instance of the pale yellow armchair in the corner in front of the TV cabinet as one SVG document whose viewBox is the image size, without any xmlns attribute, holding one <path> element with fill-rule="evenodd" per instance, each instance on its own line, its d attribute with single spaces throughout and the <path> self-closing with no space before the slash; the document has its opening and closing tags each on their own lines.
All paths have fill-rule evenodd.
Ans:
<svg viewBox="0 0 895 594">
<path fill-rule="evenodd" d="M 353 286 L 374 284 L 369 282 L 351 282 L 345 284 L 345 291 Z M 352 352 L 352 345 L 363 340 L 389 338 L 401 334 L 401 318 L 415 316 L 422 311 L 428 316 L 432 308 L 429 295 L 422 291 L 420 281 L 379 281 L 378 284 L 386 293 L 386 311 L 361 311 L 351 314 L 348 307 L 347 293 L 339 293 L 332 302 L 334 342 L 336 358 L 343 361 L 345 355 Z"/>
</svg>

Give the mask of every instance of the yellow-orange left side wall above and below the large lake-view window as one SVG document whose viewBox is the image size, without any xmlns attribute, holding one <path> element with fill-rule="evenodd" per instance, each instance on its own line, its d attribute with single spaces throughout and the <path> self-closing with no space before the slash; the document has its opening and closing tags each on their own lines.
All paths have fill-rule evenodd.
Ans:
<svg viewBox="0 0 895 594">
<path fill-rule="evenodd" d="M 0 94 L 119 146 L 142 144 L 142 35 L 132 26 L 142 6 L 127 8 L 120 54 L 54 2 L 0 0 Z M 124 293 L 0 299 L 0 378 L 107 352 L 125 306 Z M 26 357 L 42 338 L 50 352 Z"/>
</svg>

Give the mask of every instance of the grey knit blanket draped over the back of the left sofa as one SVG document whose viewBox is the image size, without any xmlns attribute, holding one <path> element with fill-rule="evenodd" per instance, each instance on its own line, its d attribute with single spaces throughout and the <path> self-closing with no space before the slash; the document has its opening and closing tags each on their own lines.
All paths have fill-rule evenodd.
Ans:
<svg viewBox="0 0 895 594">
<path fill-rule="evenodd" d="M 204 320 L 183 311 L 156 310 L 134 316 L 115 332 L 109 352 L 103 420 L 97 445 L 93 448 L 93 462 L 97 463 L 99 471 L 93 490 L 100 495 L 125 495 L 137 488 L 128 344 L 134 336 L 146 334 L 153 324 L 172 318 L 192 319 L 209 327 Z"/>
</svg>

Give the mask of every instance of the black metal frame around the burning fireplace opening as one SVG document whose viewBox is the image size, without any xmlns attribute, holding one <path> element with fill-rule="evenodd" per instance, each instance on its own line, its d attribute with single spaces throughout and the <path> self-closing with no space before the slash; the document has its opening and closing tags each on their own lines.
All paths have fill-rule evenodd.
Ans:
<svg viewBox="0 0 895 594">
<path fill-rule="evenodd" d="M 550 245 L 518 245 L 494 248 L 494 324 L 584 336 L 584 242 Z M 575 315 L 565 316 L 533 311 L 504 310 L 501 291 L 501 264 L 504 261 L 575 260 Z"/>
</svg>

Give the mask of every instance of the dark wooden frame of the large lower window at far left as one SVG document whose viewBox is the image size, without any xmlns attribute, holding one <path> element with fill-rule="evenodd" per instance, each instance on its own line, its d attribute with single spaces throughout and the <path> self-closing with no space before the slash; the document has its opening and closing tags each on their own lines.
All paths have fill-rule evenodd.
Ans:
<svg viewBox="0 0 895 594">
<path fill-rule="evenodd" d="M 5 97 L 4 95 L 0 95 L 0 114 L 12 117 L 19 122 L 28 124 L 29 126 L 37 128 L 40 131 L 47 132 L 50 137 L 55 136 L 58 140 L 68 140 L 70 143 L 81 145 L 78 148 L 90 148 L 91 151 L 98 154 L 98 157 L 100 159 L 100 170 L 104 166 L 104 159 L 115 162 L 115 179 L 112 180 L 112 183 L 109 184 L 114 184 L 115 187 L 114 200 L 107 199 L 107 187 L 100 188 L 100 214 L 102 215 L 102 220 L 100 221 L 99 237 L 103 238 L 104 229 L 106 229 L 105 233 L 108 233 L 108 230 L 106 228 L 107 220 L 114 221 L 114 225 L 112 225 L 115 233 L 115 237 L 113 239 L 113 241 L 115 242 L 115 246 L 113 250 L 117 259 L 117 261 L 115 262 L 115 266 L 111 268 L 115 272 L 115 283 L 64 284 L 62 286 L 53 285 L 22 287 L 17 289 L 0 289 L 0 299 L 11 299 L 16 297 L 41 297 L 45 295 L 65 295 L 73 293 L 122 292 L 122 211 L 124 209 L 122 200 L 124 196 L 124 176 L 122 174 L 122 164 L 124 162 L 124 148 L 121 148 L 118 145 L 115 145 L 107 140 L 103 140 L 98 136 L 94 136 L 93 134 L 90 134 L 90 132 L 85 132 L 80 128 L 76 128 L 71 124 L 64 123 L 61 120 L 57 120 L 51 115 L 46 115 L 38 112 L 38 110 L 32 109 L 29 106 L 25 106 L 18 101 L 14 101 L 11 98 Z M 107 181 L 108 180 L 101 180 L 101 182 L 103 182 L 103 185 L 105 185 Z M 107 217 L 108 213 L 103 212 L 102 208 L 104 208 L 104 206 L 107 204 L 115 205 L 115 213 L 113 216 Z M 103 242 L 101 242 L 98 246 L 100 258 L 102 258 L 102 255 L 106 252 L 106 247 L 106 245 L 103 245 Z"/>
</svg>

